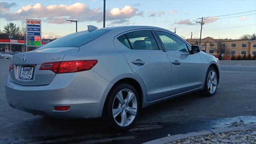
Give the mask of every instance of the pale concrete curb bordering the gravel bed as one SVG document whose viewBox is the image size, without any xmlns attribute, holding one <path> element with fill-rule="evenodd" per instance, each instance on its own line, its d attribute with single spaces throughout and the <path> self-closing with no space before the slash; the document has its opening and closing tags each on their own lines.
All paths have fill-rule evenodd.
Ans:
<svg viewBox="0 0 256 144">
<path fill-rule="evenodd" d="M 176 134 L 173 136 L 167 136 L 164 138 L 159 138 L 156 140 L 145 142 L 143 144 L 166 144 L 168 142 L 173 142 L 176 140 L 185 139 L 189 137 L 204 136 L 208 134 L 225 133 L 225 132 L 233 132 L 233 131 L 240 131 L 240 130 L 249 130 L 254 128 L 256 128 L 256 124 L 248 125 L 248 126 L 230 127 L 230 128 L 218 128 L 218 129 L 212 129 L 212 130 L 204 130 L 200 132 L 190 132 L 187 134 Z"/>
</svg>

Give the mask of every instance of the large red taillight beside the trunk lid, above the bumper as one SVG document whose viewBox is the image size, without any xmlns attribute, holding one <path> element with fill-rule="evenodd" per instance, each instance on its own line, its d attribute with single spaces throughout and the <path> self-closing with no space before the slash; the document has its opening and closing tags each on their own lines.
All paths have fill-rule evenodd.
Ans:
<svg viewBox="0 0 256 144">
<path fill-rule="evenodd" d="M 56 74 L 81 72 L 92 69 L 98 60 L 72 60 L 43 63 L 39 70 L 52 70 Z"/>
</svg>

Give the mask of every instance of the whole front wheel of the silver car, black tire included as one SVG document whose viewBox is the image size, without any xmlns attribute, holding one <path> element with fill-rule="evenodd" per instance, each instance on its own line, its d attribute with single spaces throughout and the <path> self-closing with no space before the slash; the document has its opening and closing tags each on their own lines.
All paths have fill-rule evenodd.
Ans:
<svg viewBox="0 0 256 144">
<path fill-rule="evenodd" d="M 203 96 L 213 96 L 217 91 L 218 73 L 215 68 L 210 67 L 207 70 L 204 81 L 204 89 L 201 91 Z"/>
</svg>

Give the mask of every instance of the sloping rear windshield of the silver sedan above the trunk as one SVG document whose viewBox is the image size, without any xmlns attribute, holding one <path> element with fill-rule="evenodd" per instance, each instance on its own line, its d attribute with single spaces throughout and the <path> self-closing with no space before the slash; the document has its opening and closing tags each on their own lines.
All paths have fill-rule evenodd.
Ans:
<svg viewBox="0 0 256 144">
<path fill-rule="evenodd" d="M 59 47 L 80 47 L 84 44 L 87 44 L 88 42 L 91 42 L 92 40 L 95 40 L 96 38 L 102 36 L 103 34 L 106 34 L 109 31 L 110 30 L 92 30 L 92 31 L 86 30 L 82 32 L 76 32 L 73 34 L 68 34 L 38 49 L 59 48 Z"/>
</svg>

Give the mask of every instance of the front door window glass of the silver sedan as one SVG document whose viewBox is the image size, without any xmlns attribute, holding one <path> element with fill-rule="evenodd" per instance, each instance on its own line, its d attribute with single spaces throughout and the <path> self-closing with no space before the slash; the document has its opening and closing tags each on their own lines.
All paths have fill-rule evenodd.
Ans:
<svg viewBox="0 0 256 144">
<path fill-rule="evenodd" d="M 188 52 L 187 45 L 176 36 L 162 31 L 156 31 L 156 33 L 160 37 L 165 50 Z"/>
</svg>

